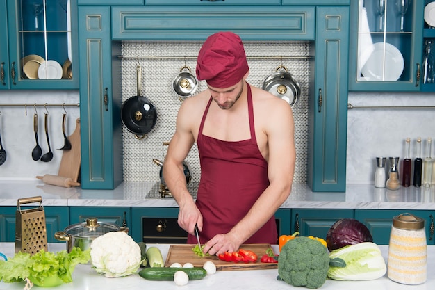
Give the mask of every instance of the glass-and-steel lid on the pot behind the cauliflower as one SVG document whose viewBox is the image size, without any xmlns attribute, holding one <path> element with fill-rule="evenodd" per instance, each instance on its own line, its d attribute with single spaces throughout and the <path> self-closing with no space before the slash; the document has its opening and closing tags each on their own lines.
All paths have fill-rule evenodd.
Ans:
<svg viewBox="0 0 435 290">
<path fill-rule="evenodd" d="M 86 218 L 85 223 L 76 223 L 65 228 L 65 233 L 71 236 L 95 237 L 108 232 L 118 232 L 121 227 L 115 223 L 101 223 L 97 218 Z"/>
</svg>

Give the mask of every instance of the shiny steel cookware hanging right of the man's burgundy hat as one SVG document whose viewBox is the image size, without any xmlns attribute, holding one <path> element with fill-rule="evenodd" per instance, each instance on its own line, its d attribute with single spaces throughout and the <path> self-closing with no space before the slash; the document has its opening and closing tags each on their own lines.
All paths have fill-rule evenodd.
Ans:
<svg viewBox="0 0 435 290">
<path fill-rule="evenodd" d="M 293 107 L 301 93 L 301 86 L 297 79 L 288 72 L 287 67 L 280 65 L 276 71 L 263 81 L 263 90 L 284 99 Z"/>
</svg>

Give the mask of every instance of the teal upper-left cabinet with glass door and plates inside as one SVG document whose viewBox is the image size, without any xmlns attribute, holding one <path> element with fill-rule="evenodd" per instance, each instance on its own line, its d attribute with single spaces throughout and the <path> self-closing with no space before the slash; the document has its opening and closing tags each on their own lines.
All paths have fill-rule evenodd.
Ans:
<svg viewBox="0 0 435 290">
<path fill-rule="evenodd" d="M 78 89 L 76 0 L 0 1 L 8 19 L 1 88 Z"/>
</svg>

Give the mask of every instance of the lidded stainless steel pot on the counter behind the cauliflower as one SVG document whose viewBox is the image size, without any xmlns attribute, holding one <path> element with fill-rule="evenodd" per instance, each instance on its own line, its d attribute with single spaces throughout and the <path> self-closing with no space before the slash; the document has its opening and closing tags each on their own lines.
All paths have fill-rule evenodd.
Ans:
<svg viewBox="0 0 435 290">
<path fill-rule="evenodd" d="M 78 247 L 81 250 L 90 248 L 90 243 L 108 232 L 129 232 L 128 227 L 120 227 L 115 223 L 100 223 L 97 218 L 86 218 L 85 223 L 76 223 L 65 227 L 63 232 L 55 232 L 58 241 L 67 241 L 67 251 Z"/>
</svg>

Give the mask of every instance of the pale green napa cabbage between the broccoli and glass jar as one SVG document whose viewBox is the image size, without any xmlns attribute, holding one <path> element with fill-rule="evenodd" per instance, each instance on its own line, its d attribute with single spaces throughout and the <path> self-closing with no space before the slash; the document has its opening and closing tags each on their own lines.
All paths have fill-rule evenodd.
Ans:
<svg viewBox="0 0 435 290">
<path fill-rule="evenodd" d="M 386 273 L 381 250 L 372 242 L 356 243 L 332 250 L 329 258 L 340 258 L 346 263 L 345 267 L 329 267 L 327 276 L 334 280 L 375 280 Z"/>
</svg>

